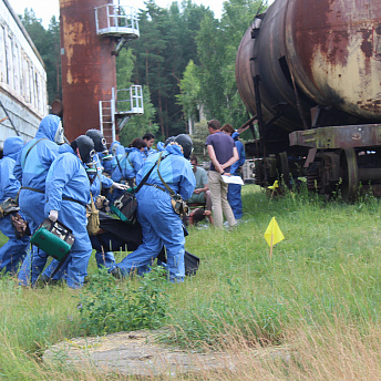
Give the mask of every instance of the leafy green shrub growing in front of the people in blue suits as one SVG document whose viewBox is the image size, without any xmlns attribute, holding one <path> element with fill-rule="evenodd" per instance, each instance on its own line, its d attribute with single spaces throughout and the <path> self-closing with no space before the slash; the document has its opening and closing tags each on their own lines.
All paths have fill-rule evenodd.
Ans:
<svg viewBox="0 0 381 381">
<path fill-rule="evenodd" d="M 102 269 L 91 276 L 80 294 L 81 327 L 89 334 L 157 328 L 166 316 L 167 287 L 161 267 L 125 282 Z"/>
</svg>

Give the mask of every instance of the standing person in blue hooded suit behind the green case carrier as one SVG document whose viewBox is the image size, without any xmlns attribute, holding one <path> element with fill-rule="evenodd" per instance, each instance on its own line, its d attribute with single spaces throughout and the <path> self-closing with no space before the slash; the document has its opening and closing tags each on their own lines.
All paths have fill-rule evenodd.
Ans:
<svg viewBox="0 0 381 381">
<path fill-rule="evenodd" d="M 51 164 L 58 156 L 59 144 L 63 142 L 61 119 L 56 115 L 48 115 L 42 119 L 35 137 L 25 144 L 17 158 L 13 174 L 21 183 L 19 206 L 21 214 L 29 223 L 31 234 L 45 218 L 43 210 L 45 179 Z M 20 284 L 34 285 L 47 259 L 48 256 L 33 246 L 19 271 Z"/>
</svg>

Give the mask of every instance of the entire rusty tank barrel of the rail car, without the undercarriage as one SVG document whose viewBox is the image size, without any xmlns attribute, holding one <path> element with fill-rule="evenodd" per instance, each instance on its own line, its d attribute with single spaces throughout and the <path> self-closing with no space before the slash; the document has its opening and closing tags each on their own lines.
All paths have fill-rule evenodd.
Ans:
<svg viewBox="0 0 381 381">
<path fill-rule="evenodd" d="M 317 105 L 329 117 L 320 125 L 381 123 L 381 1 L 276 0 L 253 40 L 251 29 L 236 78 L 253 114 L 259 75 L 265 122 L 281 114 L 278 128 L 302 130 L 302 119 L 309 127 Z"/>
</svg>

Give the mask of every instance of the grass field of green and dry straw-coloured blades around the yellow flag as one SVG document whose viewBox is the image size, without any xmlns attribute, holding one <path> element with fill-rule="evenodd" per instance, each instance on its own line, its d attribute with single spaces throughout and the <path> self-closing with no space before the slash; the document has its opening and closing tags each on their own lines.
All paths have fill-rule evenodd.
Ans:
<svg viewBox="0 0 381 381">
<path fill-rule="evenodd" d="M 165 343 L 235 353 L 237 367 L 230 371 L 205 371 L 184 375 L 186 380 L 381 379 L 380 202 L 365 197 L 354 205 L 326 203 L 306 192 L 269 199 L 254 185 L 244 187 L 243 199 L 245 216 L 235 230 L 189 230 L 186 248 L 202 262 L 184 284 L 167 285 L 154 272 L 127 282 L 104 280 L 101 274 L 81 291 L 32 290 L 2 278 L 0 379 L 104 379 L 94 370 L 51 368 L 40 360 L 49 344 L 96 331 L 99 326 L 89 323 L 94 313 L 78 308 L 92 294 L 102 301 L 96 313 L 110 317 L 112 309 L 121 318 L 138 316 L 134 328 L 152 322 L 171 327 L 161 337 Z M 270 260 L 264 233 L 271 217 L 286 238 Z M 96 274 L 93 258 L 90 272 Z M 106 287 L 102 279 L 110 281 Z M 117 308 L 126 300 L 123 292 L 151 306 L 148 312 L 131 302 L 125 310 Z M 117 327 L 110 323 L 100 332 Z M 287 356 L 248 361 L 248 348 L 279 348 Z"/>
</svg>

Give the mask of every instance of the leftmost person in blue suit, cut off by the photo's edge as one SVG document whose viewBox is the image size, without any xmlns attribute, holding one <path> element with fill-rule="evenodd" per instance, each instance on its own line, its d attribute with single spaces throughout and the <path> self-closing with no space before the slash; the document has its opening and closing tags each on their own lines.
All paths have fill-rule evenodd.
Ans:
<svg viewBox="0 0 381 381">
<path fill-rule="evenodd" d="M 8 197 L 14 199 L 20 189 L 21 184 L 14 177 L 13 168 L 22 147 L 23 141 L 19 136 L 8 137 L 4 141 L 3 158 L 0 161 L 0 203 Z M 8 237 L 8 243 L 0 248 L 0 272 L 16 275 L 27 256 L 29 237 L 24 236 L 20 239 L 16 237 L 9 215 L 0 219 L 0 230 Z"/>
</svg>

